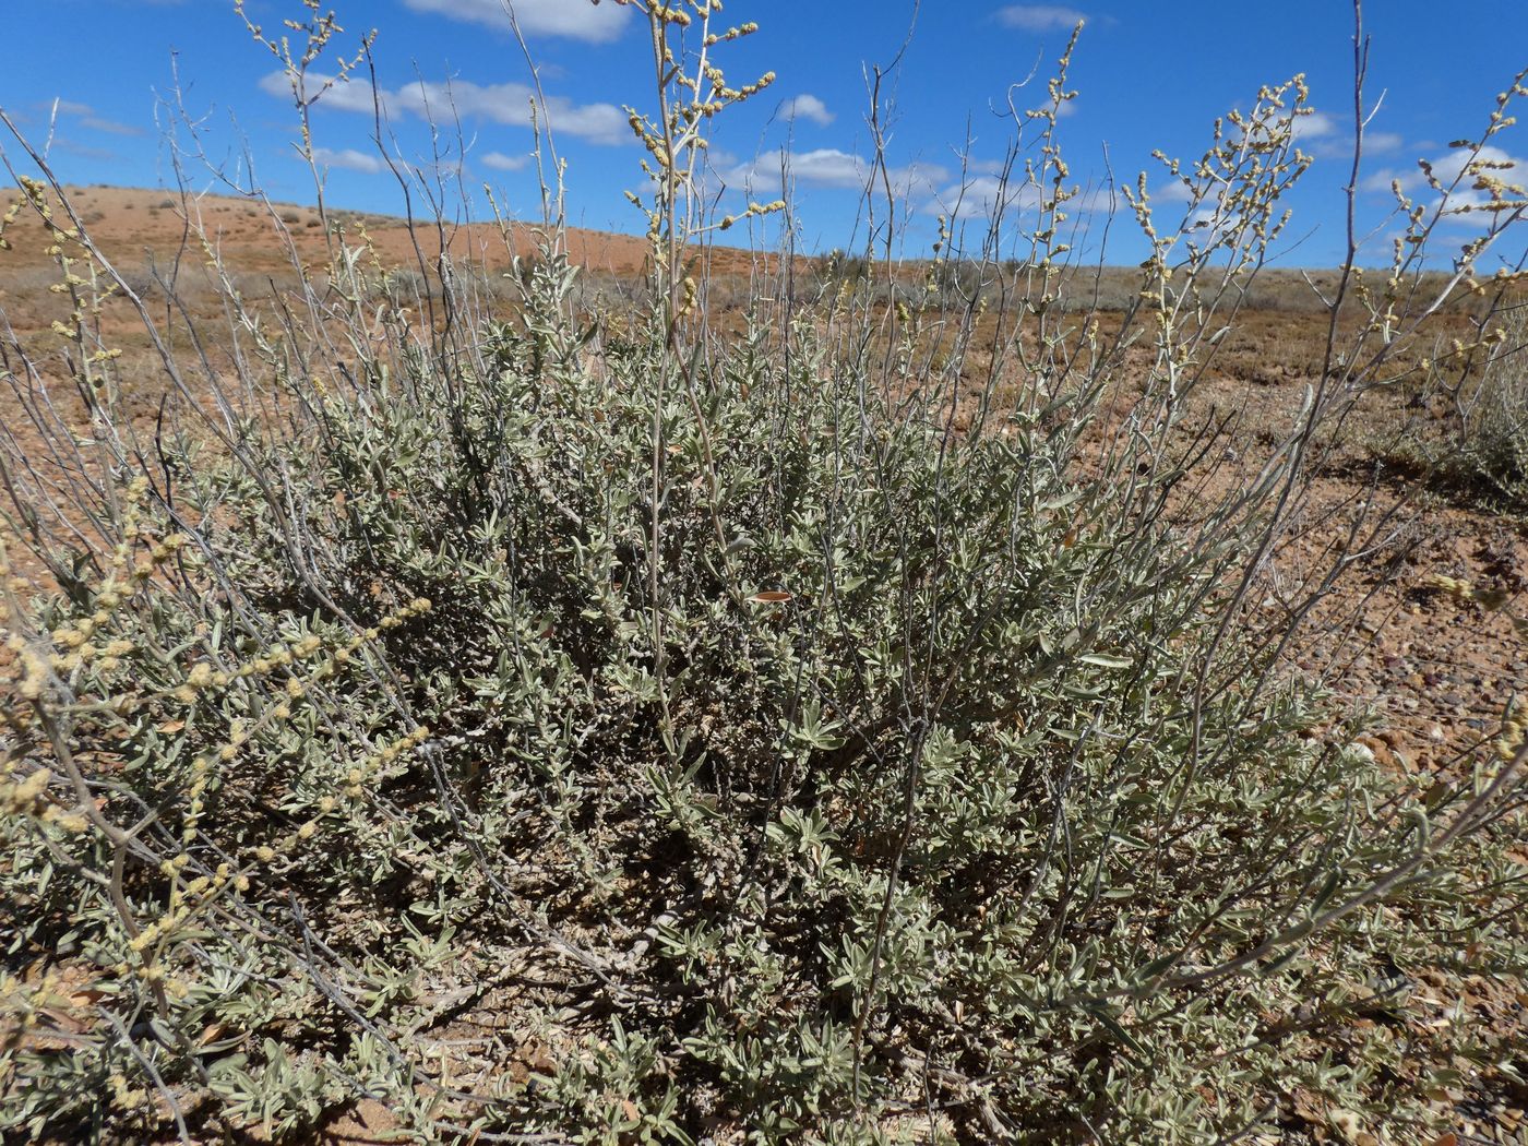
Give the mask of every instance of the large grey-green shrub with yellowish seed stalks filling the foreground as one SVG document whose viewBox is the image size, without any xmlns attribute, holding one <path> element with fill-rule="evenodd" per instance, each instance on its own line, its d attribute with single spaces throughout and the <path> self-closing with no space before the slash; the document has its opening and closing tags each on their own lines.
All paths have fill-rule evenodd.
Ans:
<svg viewBox="0 0 1528 1146">
<path fill-rule="evenodd" d="M 1216 134 L 1207 234 L 1134 200 L 1106 338 L 1050 293 L 1065 63 L 990 345 L 984 264 L 707 330 L 704 72 L 637 121 L 646 315 L 587 312 L 555 229 L 498 315 L 445 260 L 405 312 L 344 249 L 306 329 L 229 295 L 241 385 L 151 452 L 84 315 L 95 435 L 29 406 L 70 483 L 6 461 L 57 591 L 9 590 L 0 1126 L 298 1138 L 373 1099 L 425 1141 L 1198 1143 L 1300 1091 L 1415 1141 L 1450 1056 L 1520 1070 L 1445 1030 L 1403 1085 L 1352 1022 L 1467 943 L 1520 973 L 1520 724 L 1418 788 L 1248 608 L 1383 353 L 1225 492 L 1184 423 L 1303 90 Z M 454 1053 L 465 1016 L 495 1033 Z"/>
</svg>

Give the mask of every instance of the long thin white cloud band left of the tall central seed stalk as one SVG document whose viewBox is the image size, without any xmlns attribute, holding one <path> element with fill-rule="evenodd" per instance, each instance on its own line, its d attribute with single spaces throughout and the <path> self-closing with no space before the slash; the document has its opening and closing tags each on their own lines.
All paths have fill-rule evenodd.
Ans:
<svg viewBox="0 0 1528 1146">
<path fill-rule="evenodd" d="M 316 92 L 324 76 L 309 73 L 310 90 Z M 272 72 L 260 81 L 260 89 L 269 95 L 290 98 L 284 72 Z M 454 113 L 481 116 L 495 124 L 530 127 L 530 105 L 536 99 L 535 89 L 527 84 L 474 84 L 457 79 L 449 84 L 414 81 L 394 90 L 380 90 L 385 112 L 399 112 L 420 119 L 448 119 Z M 361 112 L 371 115 L 373 90 L 365 79 L 338 83 L 316 98 L 318 107 L 336 112 Z M 614 104 L 575 104 L 565 96 L 547 96 L 542 122 L 562 134 L 578 136 L 591 144 L 625 144 L 631 141 L 626 113 Z"/>
</svg>

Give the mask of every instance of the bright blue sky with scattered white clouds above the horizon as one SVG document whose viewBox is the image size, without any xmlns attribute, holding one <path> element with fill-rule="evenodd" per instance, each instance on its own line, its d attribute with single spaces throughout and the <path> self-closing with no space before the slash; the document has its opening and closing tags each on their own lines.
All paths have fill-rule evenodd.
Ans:
<svg viewBox="0 0 1528 1146">
<path fill-rule="evenodd" d="M 536 177 L 527 156 L 529 66 L 507 31 L 501 0 L 333 0 L 350 49 L 377 31 L 377 87 L 390 108 L 394 148 L 410 162 L 428 160 L 431 136 L 419 115 L 452 86 L 468 141 L 465 183 L 495 186 L 521 217 L 538 211 Z M 6 31 L 26 50 L 8 53 L 0 107 L 37 139 L 52 122 L 52 159 L 70 182 L 156 186 L 170 180 L 156 104 L 179 81 L 206 151 L 231 170 L 241 139 L 260 183 L 277 199 L 307 200 L 312 183 L 295 159 L 295 113 L 274 75 L 275 61 L 235 17 L 232 0 L 47 0 L 8 5 Z M 1497 92 L 1528 66 L 1528 5 L 1441 9 L 1435 0 L 1371 0 L 1374 40 L 1371 122 L 1363 193 L 1369 248 L 1387 252 L 1383 219 L 1389 180 L 1416 180 L 1416 160 L 1447 167 L 1450 141 L 1476 136 Z M 640 148 L 622 104 L 651 107 L 652 69 L 643 21 L 614 0 L 515 0 L 539 67 L 552 127 L 568 162 L 570 222 L 637 231 L 640 219 L 622 189 L 640 186 Z M 1253 15 L 1253 12 L 1261 15 Z M 303 17 L 299 0 L 248 0 L 252 20 L 280 31 Z M 1073 174 L 1093 186 L 1112 168 L 1120 180 L 1151 173 L 1154 148 L 1193 159 L 1209 142 L 1215 116 L 1245 107 L 1264 83 L 1305 72 L 1317 115 L 1303 121 L 1302 147 L 1316 165 L 1294 199 L 1296 219 L 1282 243 L 1288 266 L 1329 266 L 1342 251 L 1342 196 L 1351 133 L 1352 14 L 1343 0 L 1225 5 L 1209 0 L 1077 6 L 1007 5 L 1001 0 L 727 0 L 724 21 L 759 23 L 759 32 L 720 57 L 729 81 L 766 70 L 775 84 L 715 122 L 714 156 L 733 188 L 752 173 L 776 171 L 782 148 L 796 176 L 796 220 L 807 249 L 856 241 L 856 191 L 869 154 L 866 69 L 888 64 L 908 37 L 891 95 L 889 159 L 911 193 L 906 251 L 934 238 L 935 215 L 960 185 L 960 150 L 970 138 L 969 179 L 1001 160 L 1013 138 L 1008 92 L 1033 69 L 1034 83 L 1015 93 L 1021 105 L 1044 96 L 1044 79 L 1076 18 L 1086 26 L 1071 73 L 1080 92 L 1062 121 Z M 914 26 L 915 24 L 915 26 Z M 1383 93 L 1383 99 L 1381 99 Z M 1520 101 L 1528 104 L 1528 101 Z M 336 205 L 396 211 L 397 185 L 380 170 L 371 141 L 371 90 L 354 84 L 315 105 L 315 144 Z M 1528 108 L 1522 108 L 1528 110 Z M 1028 136 L 1025 136 L 1028 138 Z M 3 142 L 3 141 L 0 141 Z M 1528 125 L 1496 139 L 1507 160 L 1528 156 Z M 1106 148 L 1106 151 L 1105 151 Z M 1105 163 L 1105 154 L 1108 165 Z M 1523 180 L 1523 170 L 1514 180 Z M 200 183 L 208 183 L 203 174 Z M 778 186 L 759 176 L 756 199 Z M 978 185 L 978 193 L 981 185 Z M 979 194 L 972 197 L 979 200 Z M 1161 203 L 1164 214 L 1170 202 Z M 1181 209 L 1181 208 L 1180 208 Z M 1082 248 L 1097 255 L 1102 220 L 1089 219 Z M 1467 225 L 1452 225 L 1462 238 Z M 863 235 L 860 229 L 859 237 Z M 1522 240 L 1513 240 L 1522 255 Z M 1131 261 L 1143 248 L 1115 226 L 1109 261 Z"/>
</svg>

